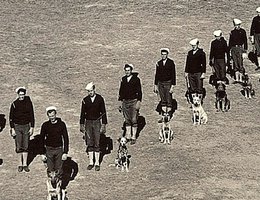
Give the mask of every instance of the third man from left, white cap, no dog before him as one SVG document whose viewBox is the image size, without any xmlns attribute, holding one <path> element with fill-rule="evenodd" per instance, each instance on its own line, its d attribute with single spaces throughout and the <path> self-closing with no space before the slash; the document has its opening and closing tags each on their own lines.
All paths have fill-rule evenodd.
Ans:
<svg viewBox="0 0 260 200">
<path fill-rule="evenodd" d="M 107 114 L 103 97 L 96 93 L 93 82 L 87 84 L 88 95 L 82 100 L 80 114 L 80 132 L 85 134 L 89 154 L 88 170 L 95 166 L 100 170 L 100 134 L 106 133 Z M 94 162 L 95 161 L 95 162 Z"/>
</svg>

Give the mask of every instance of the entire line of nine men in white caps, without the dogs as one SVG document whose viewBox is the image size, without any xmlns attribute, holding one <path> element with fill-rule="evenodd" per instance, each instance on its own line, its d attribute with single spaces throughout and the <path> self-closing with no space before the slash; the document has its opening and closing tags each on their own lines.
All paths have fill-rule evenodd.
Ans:
<svg viewBox="0 0 260 200">
<path fill-rule="evenodd" d="M 253 18 L 250 36 L 260 60 L 260 7 L 256 9 L 257 16 Z M 246 31 L 240 27 L 241 20 L 234 19 L 234 30 L 231 31 L 229 45 L 222 37 L 222 31 L 214 31 L 215 40 L 211 43 L 209 65 L 216 74 L 217 79 L 224 81 L 226 78 L 226 66 L 230 59 L 233 60 L 235 81 L 242 82 L 245 73 L 243 59 L 248 49 Z M 189 83 L 191 93 L 203 93 L 203 79 L 206 73 L 206 53 L 199 48 L 199 40 L 190 41 L 192 49 L 188 52 L 185 65 L 185 78 Z M 229 52 L 231 56 L 229 55 Z M 176 70 L 174 61 L 168 58 L 169 49 L 160 50 L 161 60 L 156 63 L 154 92 L 159 93 L 163 112 L 172 109 L 172 94 L 176 85 Z M 227 57 L 227 60 L 225 59 Z M 120 110 L 126 123 L 126 138 L 131 144 L 136 142 L 137 117 L 142 101 L 142 86 L 138 73 L 133 72 L 133 65 L 124 66 L 125 76 L 122 77 L 119 89 Z M 80 114 L 80 131 L 85 134 L 88 146 L 89 165 L 88 170 L 95 168 L 100 170 L 100 134 L 106 132 L 107 114 L 104 98 L 95 92 L 93 82 L 87 84 L 88 95 L 82 100 Z M 16 89 L 18 98 L 11 104 L 9 123 L 10 134 L 15 139 L 16 153 L 19 157 L 18 171 L 29 172 L 27 166 L 29 138 L 34 131 L 34 110 L 29 96 L 26 96 L 26 88 Z M 56 117 L 57 108 L 46 108 L 48 121 L 41 127 L 41 145 L 46 148 L 47 172 L 59 170 L 62 174 L 62 161 L 67 159 L 69 151 L 69 137 L 65 122 Z M 160 120 L 159 120 L 160 121 Z"/>
</svg>

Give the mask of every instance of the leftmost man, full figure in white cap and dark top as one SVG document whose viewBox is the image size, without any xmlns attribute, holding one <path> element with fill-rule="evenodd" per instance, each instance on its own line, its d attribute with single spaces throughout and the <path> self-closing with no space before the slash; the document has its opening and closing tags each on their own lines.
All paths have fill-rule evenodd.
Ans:
<svg viewBox="0 0 260 200">
<path fill-rule="evenodd" d="M 10 133 L 15 139 L 16 153 L 19 155 L 18 171 L 29 172 L 28 145 L 35 123 L 33 104 L 30 97 L 25 96 L 25 87 L 18 87 L 16 93 L 18 98 L 12 103 L 9 114 Z"/>
</svg>

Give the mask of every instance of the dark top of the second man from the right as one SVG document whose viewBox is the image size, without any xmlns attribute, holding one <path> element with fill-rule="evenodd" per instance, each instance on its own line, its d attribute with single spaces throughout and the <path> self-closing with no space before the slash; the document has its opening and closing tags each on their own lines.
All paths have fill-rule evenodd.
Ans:
<svg viewBox="0 0 260 200">
<path fill-rule="evenodd" d="M 245 50 L 248 48 L 246 31 L 242 28 L 234 29 L 230 33 L 228 46 L 232 48 L 236 45 L 244 46 Z"/>
</svg>

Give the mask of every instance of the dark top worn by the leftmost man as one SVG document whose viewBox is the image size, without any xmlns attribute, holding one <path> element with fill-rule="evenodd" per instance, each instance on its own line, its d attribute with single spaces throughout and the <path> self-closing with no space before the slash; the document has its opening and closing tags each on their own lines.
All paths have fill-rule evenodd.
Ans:
<svg viewBox="0 0 260 200">
<path fill-rule="evenodd" d="M 30 124 L 34 127 L 34 111 L 32 101 L 29 96 L 25 96 L 24 100 L 16 99 L 10 108 L 9 123 L 11 128 L 14 128 L 14 124 Z"/>
</svg>

